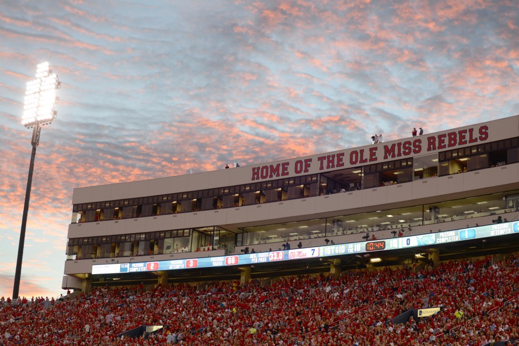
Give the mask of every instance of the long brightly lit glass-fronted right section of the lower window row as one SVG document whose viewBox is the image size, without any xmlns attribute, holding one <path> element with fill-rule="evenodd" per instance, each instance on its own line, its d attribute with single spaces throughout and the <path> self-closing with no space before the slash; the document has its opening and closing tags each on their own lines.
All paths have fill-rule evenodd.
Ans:
<svg viewBox="0 0 519 346">
<path fill-rule="evenodd" d="M 245 227 L 242 229 L 242 243 L 255 245 L 311 240 L 372 231 L 383 231 L 384 238 L 391 238 L 400 230 L 407 235 L 410 229 L 422 225 L 429 225 L 433 231 L 446 230 L 448 228 L 443 223 L 455 220 L 466 220 L 469 227 L 474 227 L 479 217 L 514 211 L 519 211 L 519 190 L 360 214 Z M 304 244 L 324 245 L 322 240 L 312 242 Z"/>
</svg>

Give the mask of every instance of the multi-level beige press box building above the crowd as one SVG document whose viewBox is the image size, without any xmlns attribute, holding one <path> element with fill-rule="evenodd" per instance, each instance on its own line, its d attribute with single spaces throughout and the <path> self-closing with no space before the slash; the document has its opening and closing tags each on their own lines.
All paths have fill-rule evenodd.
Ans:
<svg viewBox="0 0 519 346">
<path fill-rule="evenodd" d="M 407 237 L 435 234 L 440 244 L 459 241 L 469 229 L 477 234 L 497 216 L 517 220 L 518 182 L 519 116 L 513 116 L 240 168 L 79 187 L 62 286 L 203 281 L 212 274 L 247 280 L 255 271 L 275 276 L 311 268 L 332 255 L 325 262 L 336 272 L 341 259 L 352 261 L 347 255 L 387 250 L 372 237 L 418 239 L 418 246 L 422 238 Z M 447 230 L 461 233 L 456 239 Z M 405 246 L 395 241 L 392 248 Z M 261 255 L 244 260 L 250 253 Z M 386 255 L 392 264 L 409 256 Z"/>
</svg>

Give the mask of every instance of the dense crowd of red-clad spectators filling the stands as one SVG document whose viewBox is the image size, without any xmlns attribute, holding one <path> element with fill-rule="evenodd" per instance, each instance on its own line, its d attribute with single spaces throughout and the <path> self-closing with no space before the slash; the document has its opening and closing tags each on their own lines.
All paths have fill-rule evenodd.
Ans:
<svg viewBox="0 0 519 346">
<path fill-rule="evenodd" d="M 469 345 L 515 341 L 519 260 L 489 257 L 427 269 L 353 270 L 146 289 L 97 287 L 89 294 L 0 303 L 0 345 Z M 441 307 L 396 323 L 409 309 Z M 165 325 L 148 338 L 117 338 Z"/>
</svg>

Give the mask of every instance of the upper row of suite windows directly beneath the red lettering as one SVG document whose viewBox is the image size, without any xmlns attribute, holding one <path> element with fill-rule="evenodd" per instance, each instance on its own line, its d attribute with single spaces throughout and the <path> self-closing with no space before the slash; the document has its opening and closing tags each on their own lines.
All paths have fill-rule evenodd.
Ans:
<svg viewBox="0 0 519 346">
<path fill-rule="evenodd" d="M 196 212 L 373 188 L 519 162 L 519 137 L 349 169 L 342 181 L 312 174 L 125 200 L 75 204 L 72 223 Z"/>
</svg>

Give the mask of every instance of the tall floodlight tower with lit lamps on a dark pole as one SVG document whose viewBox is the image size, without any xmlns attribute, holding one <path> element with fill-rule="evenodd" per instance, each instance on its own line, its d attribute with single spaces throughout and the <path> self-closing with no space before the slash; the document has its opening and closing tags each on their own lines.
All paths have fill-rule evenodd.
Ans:
<svg viewBox="0 0 519 346">
<path fill-rule="evenodd" d="M 25 203 L 23 205 L 22 227 L 20 229 L 20 243 L 18 244 L 18 258 L 16 260 L 15 284 L 12 289 L 12 299 L 18 298 L 20 289 L 20 278 L 22 272 L 23 244 L 25 242 L 25 226 L 27 225 L 27 214 L 29 212 L 29 199 L 31 197 L 32 175 L 34 170 L 34 158 L 36 147 L 39 144 L 40 126 L 48 125 L 56 118 L 54 104 L 58 102 L 56 90 L 61 86 L 58 76 L 52 73 L 49 63 L 38 64 L 36 79 L 27 83 L 25 91 L 25 104 L 23 106 L 22 124 L 26 128 L 33 129 L 31 139 L 32 154 L 29 164 L 29 176 L 27 188 L 25 189 Z"/>
</svg>

